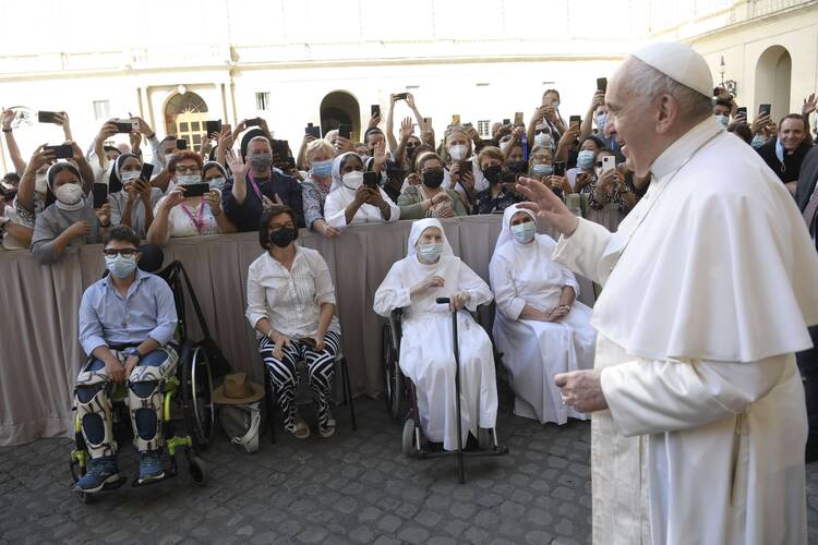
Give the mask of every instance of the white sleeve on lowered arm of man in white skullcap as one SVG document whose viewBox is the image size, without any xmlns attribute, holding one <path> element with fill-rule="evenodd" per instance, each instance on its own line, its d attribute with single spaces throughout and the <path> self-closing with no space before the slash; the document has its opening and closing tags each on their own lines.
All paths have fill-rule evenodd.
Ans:
<svg viewBox="0 0 818 545">
<path fill-rule="evenodd" d="M 698 427 L 767 396 L 791 362 L 636 360 L 602 370 L 602 392 L 626 436 Z"/>
</svg>

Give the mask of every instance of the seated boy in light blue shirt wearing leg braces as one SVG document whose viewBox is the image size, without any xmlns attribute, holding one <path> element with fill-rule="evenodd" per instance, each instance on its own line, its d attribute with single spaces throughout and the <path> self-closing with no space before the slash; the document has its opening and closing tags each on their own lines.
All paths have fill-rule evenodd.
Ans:
<svg viewBox="0 0 818 545">
<path fill-rule="evenodd" d="M 80 342 L 88 354 L 76 379 L 74 401 L 91 462 L 74 489 L 101 491 L 121 477 L 113 439 L 111 393 L 125 385 L 134 441 L 140 452 L 139 483 L 165 476 L 163 393 L 178 354 L 169 342 L 177 327 L 173 294 L 161 278 L 136 267 L 139 238 L 125 226 L 105 244 L 110 272 L 85 290 L 80 305 Z"/>
</svg>

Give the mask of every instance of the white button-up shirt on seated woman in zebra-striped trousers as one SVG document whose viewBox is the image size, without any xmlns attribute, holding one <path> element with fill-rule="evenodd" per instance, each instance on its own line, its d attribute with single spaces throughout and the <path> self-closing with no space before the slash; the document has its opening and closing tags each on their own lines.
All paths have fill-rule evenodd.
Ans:
<svg viewBox="0 0 818 545">
<path fill-rule="evenodd" d="M 312 337 L 317 332 L 324 303 L 335 304 L 335 288 L 317 251 L 296 244 L 290 270 L 268 252 L 250 264 L 246 317 L 251 326 L 267 318 L 281 335 Z M 328 330 L 340 334 L 337 317 L 333 316 Z"/>
</svg>

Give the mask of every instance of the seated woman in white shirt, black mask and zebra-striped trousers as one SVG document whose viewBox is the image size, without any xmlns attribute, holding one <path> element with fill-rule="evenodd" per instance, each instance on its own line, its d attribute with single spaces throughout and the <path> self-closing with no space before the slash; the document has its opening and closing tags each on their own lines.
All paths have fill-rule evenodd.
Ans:
<svg viewBox="0 0 818 545">
<path fill-rule="evenodd" d="M 257 331 L 258 351 L 284 412 L 285 429 L 299 439 L 310 436 L 296 405 L 296 363 L 303 360 L 318 433 L 332 437 L 335 420 L 328 398 L 340 348 L 335 288 L 321 254 L 296 244 L 297 238 L 298 223 L 290 208 L 274 205 L 262 215 L 258 243 L 265 252 L 248 271 L 246 316 Z"/>
</svg>

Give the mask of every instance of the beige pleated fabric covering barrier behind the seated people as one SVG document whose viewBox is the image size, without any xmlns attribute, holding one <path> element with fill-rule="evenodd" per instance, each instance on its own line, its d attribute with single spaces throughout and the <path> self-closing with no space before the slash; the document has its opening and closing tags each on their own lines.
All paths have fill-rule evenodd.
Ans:
<svg viewBox="0 0 818 545">
<path fill-rule="evenodd" d="M 444 220 L 455 253 L 486 281 L 501 219 Z M 335 241 L 303 229 L 299 233 L 299 242 L 318 250 L 333 274 L 356 395 L 382 391 L 384 320 L 372 312 L 372 300 L 392 264 L 405 256 L 410 226 L 357 226 Z M 233 368 L 261 382 L 261 359 L 244 317 L 248 266 L 262 253 L 257 234 L 173 239 L 164 250 L 166 264 L 179 259 L 188 270 L 210 334 Z M 100 245 L 70 250 L 51 266 L 37 265 L 27 251 L 0 251 L 0 446 L 73 434 L 72 390 L 83 360 L 77 310 L 104 266 Z M 588 281 L 581 280 L 580 292 L 580 300 L 592 304 Z M 188 319 L 191 338 L 200 340 L 190 302 Z"/>
</svg>

